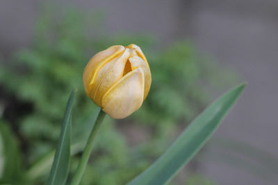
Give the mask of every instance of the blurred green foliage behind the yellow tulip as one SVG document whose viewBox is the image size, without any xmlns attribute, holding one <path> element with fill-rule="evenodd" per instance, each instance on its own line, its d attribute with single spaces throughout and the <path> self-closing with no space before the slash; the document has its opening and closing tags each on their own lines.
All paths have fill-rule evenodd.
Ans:
<svg viewBox="0 0 278 185">
<path fill-rule="evenodd" d="M 16 125 L 17 131 L 10 132 L 15 132 L 14 139 L 20 140 L 16 150 L 22 151 L 16 153 L 22 154 L 18 159 L 22 159 L 20 170 L 24 172 L 42 165 L 39 161 L 53 152 L 68 95 L 76 87 L 79 91 L 72 136 L 82 149 L 80 141 L 88 135 L 98 110 L 85 96 L 82 74 L 85 64 L 98 51 L 113 44 L 138 44 L 149 60 L 153 80 L 149 96 L 138 112 L 123 121 L 106 118 L 82 184 L 124 184 L 147 168 L 172 142 L 179 123 L 188 123 L 202 110 L 210 98 L 208 89 L 216 87 L 215 77 L 223 71 L 188 42 L 164 47 L 149 35 L 109 37 L 98 14 L 83 15 L 72 9 L 61 15 L 49 10 L 41 14 L 31 46 L 0 67 L 4 91 L 31 106 L 23 115 L 15 112 L 16 119 L 10 121 L 13 123 L 6 119 L 6 123 Z M 72 169 L 80 150 L 75 152 Z M 6 169 L 6 165 L 8 162 L 1 168 Z M 13 184 L 13 177 L 3 173 L 3 169 L 3 182 Z M 49 169 L 19 178 L 22 184 L 42 184 L 48 173 Z"/>
</svg>

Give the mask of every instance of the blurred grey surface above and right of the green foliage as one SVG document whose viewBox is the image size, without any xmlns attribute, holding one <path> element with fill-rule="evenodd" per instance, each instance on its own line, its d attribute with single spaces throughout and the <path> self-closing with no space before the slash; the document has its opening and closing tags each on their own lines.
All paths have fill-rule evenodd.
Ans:
<svg viewBox="0 0 278 185">
<path fill-rule="evenodd" d="M 42 1 L 0 1 L 2 57 L 31 44 Z M 106 10 L 106 28 L 147 32 L 167 44 L 190 39 L 248 85 L 215 136 L 251 143 L 278 157 L 278 1 L 277 0 L 59 0 L 84 11 Z M 221 92 L 220 92 L 221 93 Z M 219 95 L 219 94 L 218 94 Z M 218 184 L 265 184 L 245 170 L 202 162 L 198 170 Z"/>
</svg>

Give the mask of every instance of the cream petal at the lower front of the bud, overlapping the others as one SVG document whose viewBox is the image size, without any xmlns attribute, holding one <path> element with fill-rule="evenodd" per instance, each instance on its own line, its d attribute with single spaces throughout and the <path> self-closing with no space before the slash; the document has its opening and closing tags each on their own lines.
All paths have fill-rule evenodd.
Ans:
<svg viewBox="0 0 278 185">
<path fill-rule="evenodd" d="M 102 108 L 112 118 L 125 118 L 143 102 L 144 74 L 139 67 L 126 74 L 102 98 Z"/>
</svg>

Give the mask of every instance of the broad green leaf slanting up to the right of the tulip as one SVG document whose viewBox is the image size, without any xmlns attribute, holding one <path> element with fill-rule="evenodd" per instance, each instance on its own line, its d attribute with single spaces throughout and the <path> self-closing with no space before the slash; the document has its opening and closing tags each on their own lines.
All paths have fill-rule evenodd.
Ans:
<svg viewBox="0 0 278 185">
<path fill-rule="evenodd" d="M 213 132 L 222 122 L 232 105 L 236 102 L 245 84 L 231 89 L 215 100 L 208 108 L 193 120 L 166 152 L 152 166 L 133 179 L 129 185 L 152 184 L 161 185 L 170 182 L 181 168 L 192 159 L 196 153 L 211 138 Z"/>
</svg>

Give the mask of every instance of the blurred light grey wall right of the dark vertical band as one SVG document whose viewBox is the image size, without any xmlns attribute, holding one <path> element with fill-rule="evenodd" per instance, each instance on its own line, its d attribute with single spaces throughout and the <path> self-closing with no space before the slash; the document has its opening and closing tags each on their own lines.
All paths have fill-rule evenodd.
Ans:
<svg viewBox="0 0 278 185">
<path fill-rule="evenodd" d="M 193 38 L 203 51 L 240 73 L 247 88 L 217 135 L 278 157 L 278 1 L 199 1 Z M 265 184 L 236 168 L 204 164 L 220 184 Z"/>
</svg>

